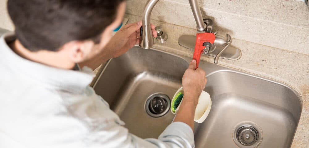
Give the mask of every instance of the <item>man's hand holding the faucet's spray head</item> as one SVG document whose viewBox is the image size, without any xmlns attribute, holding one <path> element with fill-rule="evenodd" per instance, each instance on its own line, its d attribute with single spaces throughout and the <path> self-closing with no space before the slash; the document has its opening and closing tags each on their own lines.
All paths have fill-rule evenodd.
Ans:
<svg viewBox="0 0 309 148">
<path fill-rule="evenodd" d="M 139 42 L 141 27 L 142 21 L 138 21 L 135 23 L 126 24 L 116 32 L 105 47 L 112 53 L 113 58 L 124 54 Z M 155 25 L 151 24 L 151 29 L 153 36 L 157 37 Z"/>
</svg>

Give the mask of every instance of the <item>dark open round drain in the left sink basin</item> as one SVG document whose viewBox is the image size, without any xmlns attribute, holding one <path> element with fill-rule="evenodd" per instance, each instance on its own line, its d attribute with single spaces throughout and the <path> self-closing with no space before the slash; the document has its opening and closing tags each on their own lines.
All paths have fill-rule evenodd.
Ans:
<svg viewBox="0 0 309 148">
<path fill-rule="evenodd" d="M 151 117 L 161 117 L 168 112 L 170 105 L 171 101 L 167 95 L 155 93 L 148 97 L 145 109 L 146 113 Z"/>
</svg>

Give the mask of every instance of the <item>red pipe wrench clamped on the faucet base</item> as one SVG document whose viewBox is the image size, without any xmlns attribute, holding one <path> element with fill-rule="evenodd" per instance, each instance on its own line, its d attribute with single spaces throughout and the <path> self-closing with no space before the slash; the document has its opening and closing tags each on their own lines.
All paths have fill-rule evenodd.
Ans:
<svg viewBox="0 0 309 148">
<path fill-rule="evenodd" d="M 203 46 L 204 42 L 210 42 L 214 44 L 215 35 L 213 33 L 197 33 L 195 40 L 195 47 L 193 52 L 193 60 L 196 60 L 196 68 L 200 62 L 201 54 L 203 53 L 205 46 Z"/>
</svg>

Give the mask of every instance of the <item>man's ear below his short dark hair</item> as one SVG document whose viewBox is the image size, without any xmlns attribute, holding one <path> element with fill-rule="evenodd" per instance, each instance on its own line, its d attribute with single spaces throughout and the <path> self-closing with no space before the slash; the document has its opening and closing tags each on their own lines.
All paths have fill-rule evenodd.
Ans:
<svg viewBox="0 0 309 148">
<path fill-rule="evenodd" d="M 67 50 L 69 54 L 69 58 L 74 63 L 79 63 L 87 59 L 91 48 L 94 46 L 93 41 L 85 40 L 85 41 L 71 41 L 66 43 L 65 50 Z"/>
</svg>

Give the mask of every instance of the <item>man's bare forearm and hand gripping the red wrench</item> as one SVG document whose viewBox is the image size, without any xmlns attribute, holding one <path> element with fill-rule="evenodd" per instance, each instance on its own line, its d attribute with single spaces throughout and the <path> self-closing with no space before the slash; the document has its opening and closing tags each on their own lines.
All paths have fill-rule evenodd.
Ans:
<svg viewBox="0 0 309 148">
<path fill-rule="evenodd" d="M 174 122 L 180 121 L 188 124 L 192 130 L 198 98 L 207 82 L 205 72 L 200 68 L 194 70 L 195 66 L 196 61 L 192 60 L 182 78 L 184 97 L 174 119 Z"/>
</svg>

